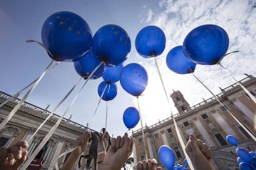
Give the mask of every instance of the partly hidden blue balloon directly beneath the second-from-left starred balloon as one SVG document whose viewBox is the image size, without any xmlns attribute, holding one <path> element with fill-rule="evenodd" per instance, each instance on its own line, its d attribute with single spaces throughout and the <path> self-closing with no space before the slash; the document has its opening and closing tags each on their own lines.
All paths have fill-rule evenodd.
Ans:
<svg viewBox="0 0 256 170">
<path fill-rule="evenodd" d="M 115 67 L 106 67 L 106 71 L 103 73 L 102 78 L 108 84 L 116 83 L 120 79 L 122 68 L 124 68 L 122 63 Z"/>
</svg>

